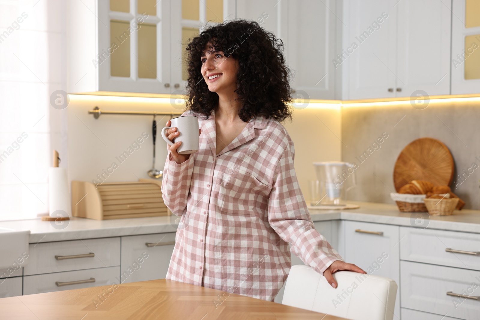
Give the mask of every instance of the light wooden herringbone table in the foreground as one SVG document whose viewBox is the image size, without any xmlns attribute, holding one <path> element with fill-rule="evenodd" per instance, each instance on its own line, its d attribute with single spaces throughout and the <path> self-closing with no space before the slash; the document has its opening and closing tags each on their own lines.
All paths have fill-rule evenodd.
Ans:
<svg viewBox="0 0 480 320">
<path fill-rule="evenodd" d="M 166 279 L 1 298 L 0 319 L 344 320 Z"/>
</svg>

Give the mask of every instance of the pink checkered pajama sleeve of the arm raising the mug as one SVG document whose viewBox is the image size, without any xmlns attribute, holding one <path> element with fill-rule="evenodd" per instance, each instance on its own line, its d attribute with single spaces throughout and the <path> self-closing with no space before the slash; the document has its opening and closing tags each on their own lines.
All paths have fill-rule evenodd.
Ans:
<svg viewBox="0 0 480 320">
<path fill-rule="evenodd" d="M 161 187 L 162 198 L 168 209 L 178 216 L 187 211 L 194 162 L 194 154 L 190 154 L 188 160 L 178 164 L 170 153 L 165 161 Z"/>
</svg>

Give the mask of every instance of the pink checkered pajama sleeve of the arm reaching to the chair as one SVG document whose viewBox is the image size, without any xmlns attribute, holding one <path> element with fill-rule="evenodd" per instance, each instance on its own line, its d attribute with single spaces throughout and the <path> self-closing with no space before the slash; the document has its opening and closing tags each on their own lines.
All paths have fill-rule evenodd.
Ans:
<svg viewBox="0 0 480 320">
<path fill-rule="evenodd" d="M 293 142 L 288 138 L 285 142 L 285 149 L 276 165 L 268 220 L 275 232 L 292 245 L 291 251 L 296 256 L 323 274 L 334 261 L 344 260 L 315 230 L 295 174 Z"/>
</svg>

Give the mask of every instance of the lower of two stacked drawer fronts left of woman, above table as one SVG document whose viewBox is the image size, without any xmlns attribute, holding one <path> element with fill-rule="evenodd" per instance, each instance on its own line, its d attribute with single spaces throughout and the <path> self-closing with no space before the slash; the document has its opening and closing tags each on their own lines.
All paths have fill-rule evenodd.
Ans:
<svg viewBox="0 0 480 320">
<path fill-rule="evenodd" d="M 108 267 L 24 276 L 24 295 L 118 284 L 120 267 Z M 95 282 L 68 284 L 95 279 Z M 56 284 L 59 282 L 60 286 Z M 64 284 L 64 285 L 61 285 Z"/>
</svg>

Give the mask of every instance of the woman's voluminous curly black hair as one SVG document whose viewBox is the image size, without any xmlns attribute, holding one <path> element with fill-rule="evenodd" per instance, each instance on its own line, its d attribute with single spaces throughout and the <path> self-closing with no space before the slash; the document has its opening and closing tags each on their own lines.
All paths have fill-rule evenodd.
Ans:
<svg viewBox="0 0 480 320">
<path fill-rule="evenodd" d="M 292 118 L 290 70 L 283 56 L 283 42 L 266 32 L 257 22 L 226 21 L 204 30 L 187 46 L 187 109 L 208 119 L 218 104 L 218 95 L 208 90 L 202 76 L 201 56 L 207 46 L 214 52 L 239 61 L 237 89 L 242 107 L 240 119 L 247 122 L 256 116 L 278 121 Z"/>
</svg>

